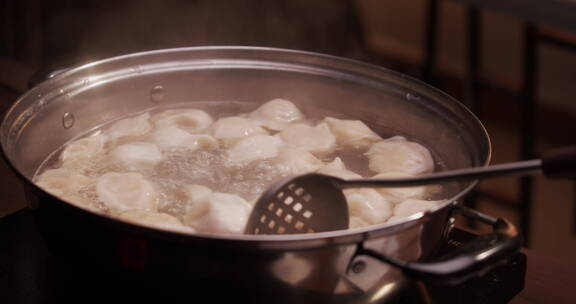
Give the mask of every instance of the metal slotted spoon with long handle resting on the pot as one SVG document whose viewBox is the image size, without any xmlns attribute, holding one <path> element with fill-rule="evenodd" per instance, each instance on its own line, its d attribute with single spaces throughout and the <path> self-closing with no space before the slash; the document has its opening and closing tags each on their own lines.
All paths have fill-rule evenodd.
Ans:
<svg viewBox="0 0 576 304">
<path fill-rule="evenodd" d="M 247 234 L 295 234 L 348 228 L 344 188 L 409 187 L 455 180 L 527 175 L 576 177 L 576 147 L 547 153 L 541 159 L 472 167 L 395 179 L 354 179 L 305 174 L 281 180 L 264 192 L 252 209 Z"/>
</svg>

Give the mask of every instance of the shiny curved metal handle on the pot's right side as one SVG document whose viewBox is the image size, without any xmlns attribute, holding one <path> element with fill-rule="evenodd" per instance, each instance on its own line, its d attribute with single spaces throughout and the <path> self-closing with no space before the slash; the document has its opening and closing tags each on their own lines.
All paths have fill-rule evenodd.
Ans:
<svg viewBox="0 0 576 304">
<path fill-rule="evenodd" d="M 391 264 L 408 276 L 421 280 L 432 280 L 446 285 L 460 284 L 472 277 L 482 275 L 500 261 L 505 261 L 522 246 L 522 239 L 512 223 L 494 218 L 476 210 L 458 206 L 461 215 L 490 224 L 493 231 L 462 245 L 448 258 L 430 262 L 407 262 L 387 257 L 359 245 L 357 255 L 368 255 Z"/>
</svg>

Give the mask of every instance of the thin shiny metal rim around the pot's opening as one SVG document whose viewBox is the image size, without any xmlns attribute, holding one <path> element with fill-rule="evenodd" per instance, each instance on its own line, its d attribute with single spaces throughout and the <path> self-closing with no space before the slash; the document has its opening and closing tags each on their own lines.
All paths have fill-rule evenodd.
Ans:
<svg viewBox="0 0 576 304">
<path fill-rule="evenodd" d="M 51 77 L 47 81 L 39 84 L 38 86 L 32 88 L 24 95 L 22 95 L 18 100 L 10 107 L 10 109 L 6 112 L 1 126 L 1 139 L 2 139 L 2 156 L 9 164 L 11 169 L 20 177 L 26 180 L 29 184 L 31 184 L 34 188 L 39 189 L 43 193 L 52 196 L 48 192 L 44 191 L 43 189 L 37 187 L 31 179 L 25 176 L 14 164 L 10 161 L 9 155 L 7 155 L 6 151 L 6 138 L 9 132 L 9 127 L 7 126 L 7 120 L 11 115 L 14 115 L 16 108 L 23 103 L 24 100 L 31 98 L 31 95 L 37 94 L 38 90 L 41 90 L 45 87 L 49 87 L 58 81 L 66 79 L 67 77 L 71 77 L 77 73 L 83 73 L 85 71 L 89 71 L 93 67 L 97 67 L 106 63 L 113 63 L 117 61 L 123 60 L 132 60 L 132 59 L 139 59 L 146 56 L 151 55 L 166 55 L 166 54 L 173 54 L 173 53 L 194 53 L 194 52 L 206 52 L 206 51 L 218 51 L 221 53 L 231 53 L 234 54 L 235 52 L 246 52 L 246 53 L 254 53 L 252 55 L 258 55 L 261 53 L 264 54 L 285 54 L 285 55 L 292 55 L 292 56 L 303 56 L 307 59 L 318 59 L 320 62 L 324 64 L 324 69 L 330 69 L 330 63 L 338 63 L 341 67 L 344 65 L 345 67 L 361 69 L 366 73 L 370 73 L 370 76 L 386 76 L 386 77 L 393 77 L 397 81 L 401 82 L 408 82 L 411 88 L 419 88 L 425 91 L 427 94 L 434 95 L 435 98 L 444 99 L 446 102 L 450 103 L 450 106 L 455 106 L 458 108 L 459 111 L 462 111 L 467 115 L 468 119 L 471 119 L 473 123 L 479 128 L 480 132 L 483 135 L 483 140 L 486 141 L 486 159 L 481 166 L 487 166 L 490 162 L 491 154 L 492 154 L 492 145 L 490 141 L 490 137 L 488 136 L 488 132 L 486 131 L 485 127 L 482 125 L 480 120 L 468 109 L 466 108 L 461 102 L 457 101 L 450 95 L 442 92 L 441 90 L 432 87 L 418 79 L 413 77 L 407 76 L 400 72 L 396 72 L 381 66 L 376 66 L 373 64 L 368 64 L 365 62 L 361 62 L 354 59 L 349 58 L 342 58 L 327 54 L 320 54 L 315 52 L 308 52 L 308 51 L 300 51 L 300 50 L 291 50 L 291 49 L 282 49 L 282 48 L 271 48 L 271 47 L 253 47 L 253 46 L 202 46 L 202 47 L 184 47 L 184 48 L 169 48 L 169 49 L 159 49 L 159 50 L 152 50 L 152 51 L 145 51 L 145 52 L 137 52 L 131 53 L 111 58 L 106 58 L 94 62 L 90 62 L 87 64 L 83 64 L 77 67 L 74 67 L 70 70 L 64 71 L 60 74 Z M 257 59 L 253 59 L 257 60 Z M 306 62 L 299 62 L 300 65 L 304 66 Z M 336 71 L 340 72 L 340 71 Z M 346 71 L 344 71 L 346 72 Z M 350 72 L 350 71 L 348 71 Z M 353 72 L 356 72 L 353 71 Z M 357 76 L 357 75 L 352 75 Z M 362 75 L 360 75 L 362 76 Z M 366 75 L 364 75 L 366 76 Z M 113 76 L 111 76 L 113 77 Z M 159 235 L 168 238 L 176 238 L 176 239 L 183 239 L 183 238 L 193 238 L 193 239 L 205 239 L 205 240 L 214 240 L 214 241 L 240 241 L 240 242 L 254 242 L 257 244 L 259 248 L 279 248 L 279 247 L 290 247 L 294 249 L 297 248 L 308 248 L 308 247 L 316 247 L 319 245 L 325 244 L 345 244 L 351 242 L 358 242 L 364 241 L 367 239 L 372 239 L 382 235 L 389 235 L 393 234 L 397 231 L 401 231 L 415 225 L 420 224 L 421 222 L 426 221 L 428 218 L 434 216 L 436 213 L 440 212 L 445 208 L 451 208 L 454 204 L 457 204 L 457 200 L 461 199 L 464 195 L 466 195 L 473 187 L 476 186 L 478 180 L 471 181 L 464 189 L 458 192 L 456 195 L 452 196 L 449 199 L 446 199 L 444 203 L 427 210 L 425 212 L 419 212 L 413 214 L 408 217 L 403 217 L 400 219 L 393 220 L 392 222 L 386 222 L 382 224 L 361 227 L 361 228 L 351 228 L 346 230 L 337 230 L 337 231 L 328 231 L 328 232 L 319 232 L 314 234 L 288 234 L 288 235 L 232 235 L 232 234 L 209 234 L 209 233 L 181 233 L 176 231 L 167 231 L 167 230 L 160 230 L 155 228 L 149 228 L 143 225 L 132 224 L 128 222 L 124 222 L 113 218 L 111 216 L 105 214 L 98 214 L 96 212 L 90 211 L 86 208 L 74 205 L 72 203 L 65 202 L 68 206 L 77 209 L 83 213 L 89 213 L 91 215 L 97 216 L 98 218 L 105 218 L 106 220 L 113 221 L 115 224 L 121 223 L 123 225 L 128 225 L 131 227 L 138 227 L 138 229 L 143 228 L 146 233 L 150 233 L 154 231 L 154 233 L 159 232 Z M 125 226 L 125 227 L 128 227 Z M 294 246 L 296 245 L 296 246 Z"/>
</svg>

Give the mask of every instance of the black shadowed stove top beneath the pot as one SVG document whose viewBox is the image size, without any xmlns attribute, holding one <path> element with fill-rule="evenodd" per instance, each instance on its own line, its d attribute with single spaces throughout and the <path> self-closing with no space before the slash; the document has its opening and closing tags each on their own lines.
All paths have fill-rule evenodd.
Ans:
<svg viewBox="0 0 576 304">
<path fill-rule="evenodd" d="M 450 252 L 474 237 L 454 229 L 440 252 Z M 458 286 L 414 284 L 397 303 L 422 303 L 422 288 L 433 303 L 506 303 L 524 287 L 525 273 L 526 256 L 518 253 L 484 276 Z M 89 263 L 72 265 L 50 255 L 29 211 L 0 219 L 0 303 L 195 302 L 194 290 L 200 289 L 214 294 L 211 302 L 234 300 L 234 295 L 211 282 L 198 285 L 169 278 L 151 282 L 129 273 L 96 269 Z"/>
</svg>

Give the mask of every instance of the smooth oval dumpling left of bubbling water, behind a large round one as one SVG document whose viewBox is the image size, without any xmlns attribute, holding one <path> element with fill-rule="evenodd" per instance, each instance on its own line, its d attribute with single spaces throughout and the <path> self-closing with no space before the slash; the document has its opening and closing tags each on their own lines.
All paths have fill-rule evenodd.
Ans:
<svg viewBox="0 0 576 304">
<path fill-rule="evenodd" d="M 162 152 L 155 144 L 135 142 L 117 146 L 110 151 L 112 160 L 131 171 L 153 168 L 162 161 Z"/>
</svg>

